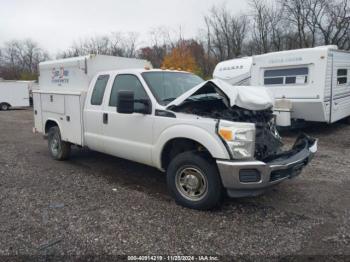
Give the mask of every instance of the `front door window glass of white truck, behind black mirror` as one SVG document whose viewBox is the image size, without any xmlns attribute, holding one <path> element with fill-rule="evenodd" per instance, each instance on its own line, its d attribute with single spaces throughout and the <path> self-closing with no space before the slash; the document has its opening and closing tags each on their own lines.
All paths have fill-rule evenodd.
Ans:
<svg viewBox="0 0 350 262">
<path fill-rule="evenodd" d="M 109 106 L 117 106 L 119 91 L 133 91 L 135 99 L 148 99 L 140 80 L 134 75 L 117 75 L 114 79 Z M 135 109 L 142 108 L 142 104 L 135 103 Z"/>
</svg>

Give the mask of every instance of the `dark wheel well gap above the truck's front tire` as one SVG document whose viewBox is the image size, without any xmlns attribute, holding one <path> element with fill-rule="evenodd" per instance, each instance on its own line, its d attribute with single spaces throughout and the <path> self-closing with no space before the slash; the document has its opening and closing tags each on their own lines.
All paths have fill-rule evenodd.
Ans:
<svg viewBox="0 0 350 262">
<path fill-rule="evenodd" d="M 212 155 L 202 144 L 188 138 L 175 138 L 168 141 L 163 147 L 161 154 L 162 168 L 166 170 L 170 164 L 170 161 L 178 154 L 187 151 L 197 151 L 207 154 L 208 157 L 212 158 Z"/>
</svg>

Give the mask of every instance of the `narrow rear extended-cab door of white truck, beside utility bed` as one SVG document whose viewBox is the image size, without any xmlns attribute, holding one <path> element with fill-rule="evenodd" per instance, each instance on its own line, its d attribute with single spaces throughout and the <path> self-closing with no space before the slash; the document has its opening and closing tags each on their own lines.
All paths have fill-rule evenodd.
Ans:
<svg viewBox="0 0 350 262">
<path fill-rule="evenodd" d="M 85 101 L 84 108 L 84 139 L 89 148 L 104 152 L 103 125 L 106 121 L 106 113 L 103 110 L 105 91 L 109 83 L 109 75 L 99 75 L 96 81 L 92 81 Z"/>
</svg>

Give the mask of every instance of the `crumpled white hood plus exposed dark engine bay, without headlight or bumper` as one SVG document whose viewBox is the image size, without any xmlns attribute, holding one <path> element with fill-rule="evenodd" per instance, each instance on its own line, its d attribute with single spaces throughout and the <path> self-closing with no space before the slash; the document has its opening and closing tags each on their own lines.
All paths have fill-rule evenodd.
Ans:
<svg viewBox="0 0 350 262">
<path fill-rule="evenodd" d="M 282 141 L 279 136 L 272 111 L 273 102 L 262 88 L 226 86 L 218 80 L 206 82 L 195 92 L 169 105 L 175 112 L 198 115 L 237 123 L 255 125 L 255 152 L 252 158 L 265 161 L 281 153 Z M 245 88 L 242 89 L 242 88 Z M 258 95 L 247 94 L 258 92 Z M 233 95 L 231 93 L 233 91 Z M 229 93 L 229 94 L 227 94 Z M 233 100 L 233 101 L 232 101 Z"/>
</svg>

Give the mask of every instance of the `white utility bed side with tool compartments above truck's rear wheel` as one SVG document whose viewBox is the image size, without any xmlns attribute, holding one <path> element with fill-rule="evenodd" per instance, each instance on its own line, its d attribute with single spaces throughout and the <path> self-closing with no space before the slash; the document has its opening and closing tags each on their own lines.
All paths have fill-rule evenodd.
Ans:
<svg viewBox="0 0 350 262">
<path fill-rule="evenodd" d="M 47 134 L 50 121 L 54 121 L 62 140 L 83 146 L 85 97 L 85 91 L 33 91 L 35 131 Z"/>
</svg>

